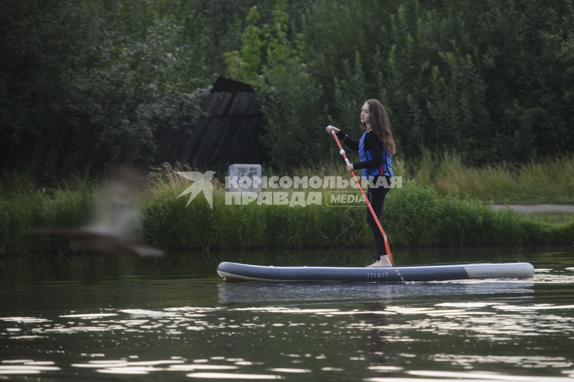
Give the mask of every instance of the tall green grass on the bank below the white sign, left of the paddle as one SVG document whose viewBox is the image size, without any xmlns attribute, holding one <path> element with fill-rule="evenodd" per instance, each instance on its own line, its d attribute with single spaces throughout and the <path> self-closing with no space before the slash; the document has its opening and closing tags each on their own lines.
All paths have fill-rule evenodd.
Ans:
<svg viewBox="0 0 574 382">
<path fill-rule="evenodd" d="M 179 170 L 190 171 L 185 167 Z M 171 166 L 164 165 L 150 174 L 144 202 L 144 230 L 158 232 L 149 237 L 161 247 L 197 250 L 323 247 L 332 245 L 338 236 L 335 242 L 339 245 L 352 245 L 356 238 L 345 233 L 363 229 L 363 221 L 357 216 L 363 211 L 353 208 L 227 205 L 223 184 L 215 182 L 213 210 L 202 195 L 186 208 L 188 198 L 176 199 L 176 196 L 189 186 L 189 181 L 173 171 Z M 311 172 L 321 174 L 318 171 Z"/>
</svg>

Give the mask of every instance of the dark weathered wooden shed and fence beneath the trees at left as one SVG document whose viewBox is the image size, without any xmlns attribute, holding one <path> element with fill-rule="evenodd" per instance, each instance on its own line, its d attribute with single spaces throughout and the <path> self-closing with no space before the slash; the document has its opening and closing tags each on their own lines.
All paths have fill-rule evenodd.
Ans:
<svg viewBox="0 0 574 382">
<path fill-rule="evenodd" d="M 208 170 L 232 163 L 263 163 L 267 153 L 259 141 L 265 120 L 257 96 L 247 84 L 220 77 L 201 103 L 203 117 L 196 123 L 180 121 L 176 127 L 158 127 L 158 148 L 152 163 L 176 161 Z M 0 167 L 33 174 L 70 174 L 103 170 L 110 162 L 105 147 L 94 147 L 93 132 L 63 128 L 54 133 L 25 137 L 20 144 L 0 148 Z M 141 165 L 138 150 L 127 153 L 120 163 Z M 117 163 L 118 161 L 116 161 Z"/>
</svg>

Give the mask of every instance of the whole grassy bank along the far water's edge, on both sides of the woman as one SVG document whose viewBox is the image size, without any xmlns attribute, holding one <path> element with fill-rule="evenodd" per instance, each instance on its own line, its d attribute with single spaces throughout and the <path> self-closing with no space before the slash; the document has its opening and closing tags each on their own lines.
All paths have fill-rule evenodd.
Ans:
<svg viewBox="0 0 574 382">
<path fill-rule="evenodd" d="M 214 182 L 214 208 L 203 195 L 186 208 L 187 196 L 176 199 L 190 184 L 166 166 L 152 172 L 140 200 L 144 219 L 139 238 L 166 250 L 363 247 L 372 245 L 365 208 L 321 205 L 228 205 L 223 184 Z M 189 171 L 189 168 L 180 170 Z M 330 168 L 307 170 L 309 175 L 333 175 Z M 304 176 L 308 174 L 301 174 Z M 2 185 L 0 254 L 63 253 L 79 250 L 65 239 L 28 233 L 33 226 L 77 226 L 99 197 L 99 188 L 86 177 L 35 187 L 22 178 L 20 192 L 6 194 L 17 183 Z M 571 243 L 574 222 L 545 223 L 528 214 L 494 211 L 477 199 L 443 196 L 432 187 L 404 182 L 385 201 L 383 225 L 393 245 L 466 246 L 524 243 Z M 328 191 L 319 189 L 324 194 Z M 319 191 L 315 190 L 315 191 Z M 282 190 L 278 190 L 282 191 Z M 293 190 L 290 190 L 293 191 Z M 301 190 L 300 190 L 301 191 Z M 311 191 L 311 190 L 306 190 Z M 72 244 L 73 245 L 73 244 Z"/>
</svg>

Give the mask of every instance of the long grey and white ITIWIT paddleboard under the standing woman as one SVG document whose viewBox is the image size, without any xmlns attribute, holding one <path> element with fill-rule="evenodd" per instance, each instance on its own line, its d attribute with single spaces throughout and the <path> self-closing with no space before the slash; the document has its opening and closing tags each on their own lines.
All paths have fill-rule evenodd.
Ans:
<svg viewBox="0 0 574 382">
<path fill-rule="evenodd" d="M 217 273 L 229 280 L 252 281 L 444 281 L 471 278 L 528 277 L 534 267 L 522 262 L 367 267 L 274 267 L 222 262 Z"/>
</svg>

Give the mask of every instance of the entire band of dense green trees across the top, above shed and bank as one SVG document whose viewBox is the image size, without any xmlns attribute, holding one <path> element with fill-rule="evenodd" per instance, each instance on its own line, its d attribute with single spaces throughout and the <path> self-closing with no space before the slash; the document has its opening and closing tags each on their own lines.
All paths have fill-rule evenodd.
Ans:
<svg viewBox="0 0 574 382">
<path fill-rule="evenodd" d="M 257 7 L 254 7 L 257 6 Z M 261 96 L 278 166 L 335 155 L 389 112 L 404 158 L 465 163 L 572 152 L 574 4 L 545 0 L 5 0 L 0 133 L 89 129 L 114 156 L 153 157 L 154 128 L 197 117 L 223 74 Z M 175 101 L 175 102 L 174 102 Z M 190 105 L 181 109 L 181 101 Z"/>
</svg>

